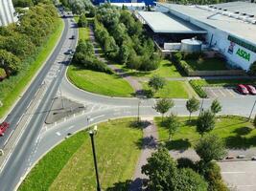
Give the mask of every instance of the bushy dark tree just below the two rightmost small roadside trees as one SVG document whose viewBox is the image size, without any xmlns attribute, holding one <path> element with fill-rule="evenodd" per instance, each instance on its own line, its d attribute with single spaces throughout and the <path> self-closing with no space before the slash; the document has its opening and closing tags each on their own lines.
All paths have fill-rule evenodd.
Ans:
<svg viewBox="0 0 256 191">
<path fill-rule="evenodd" d="M 215 115 L 207 110 L 202 112 L 197 121 L 197 131 L 203 136 L 205 132 L 210 132 L 215 127 Z"/>
</svg>

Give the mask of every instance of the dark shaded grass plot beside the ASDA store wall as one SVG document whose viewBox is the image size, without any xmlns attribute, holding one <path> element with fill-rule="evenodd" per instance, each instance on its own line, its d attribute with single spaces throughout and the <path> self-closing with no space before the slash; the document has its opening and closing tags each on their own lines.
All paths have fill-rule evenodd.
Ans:
<svg viewBox="0 0 256 191">
<path fill-rule="evenodd" d="M 220 71 L 227 70 L 225 61 L 219 58 L 207 58 L 203 60 L 188 59 L 185 62 L 195 71 Z"/>
</svg>

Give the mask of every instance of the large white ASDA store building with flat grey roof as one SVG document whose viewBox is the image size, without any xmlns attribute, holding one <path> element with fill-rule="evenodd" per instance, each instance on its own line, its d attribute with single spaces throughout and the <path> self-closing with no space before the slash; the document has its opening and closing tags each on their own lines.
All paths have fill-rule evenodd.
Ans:
<svg viewBox="0 0 256 191">
<path fill-rule="evenodd" d="M 255 3 L 231 2 L 209 6 L 156 3 L 155 10 L 152 13 L 138 12 L 138 18 L 148 24 L 152 32 L 161 35 L 177 33 L 179 37 L 182 33 L 184 36 L 199 36 L 203 39 L 202 47 L 222 53 L 228 63 L 244 70 L 256 61 Z M 175 47 L 172 43 L 169 45 Z"/>
</svg>

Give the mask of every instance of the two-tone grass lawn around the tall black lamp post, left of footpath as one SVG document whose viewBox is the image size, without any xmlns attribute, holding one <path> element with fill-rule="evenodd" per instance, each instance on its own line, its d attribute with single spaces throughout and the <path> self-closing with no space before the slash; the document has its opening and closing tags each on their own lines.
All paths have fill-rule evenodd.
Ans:
<svg viewBox="0 0 256 191">
<path fill-rule="evenodd" d="M 133 120 L 116 119 L 99 125 L 95 143 L 103 190 L 128 190 L 142 138 L 140 129 L 130 127 Z M 19 190 L 96 190 L 88 132 L 64 140 L 39 160 Z"/>
</svg>

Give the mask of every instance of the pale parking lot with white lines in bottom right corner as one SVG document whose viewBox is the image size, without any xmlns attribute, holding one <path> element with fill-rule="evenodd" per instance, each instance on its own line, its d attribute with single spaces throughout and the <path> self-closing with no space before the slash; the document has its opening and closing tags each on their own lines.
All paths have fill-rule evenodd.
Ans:
<svg viewBox="0 0 256 191">
<path fill-rule="evenodd" d="M 221 176 L 231 190 L 256 191 L 256 161 L 218 162 Z"/>
</svg>

